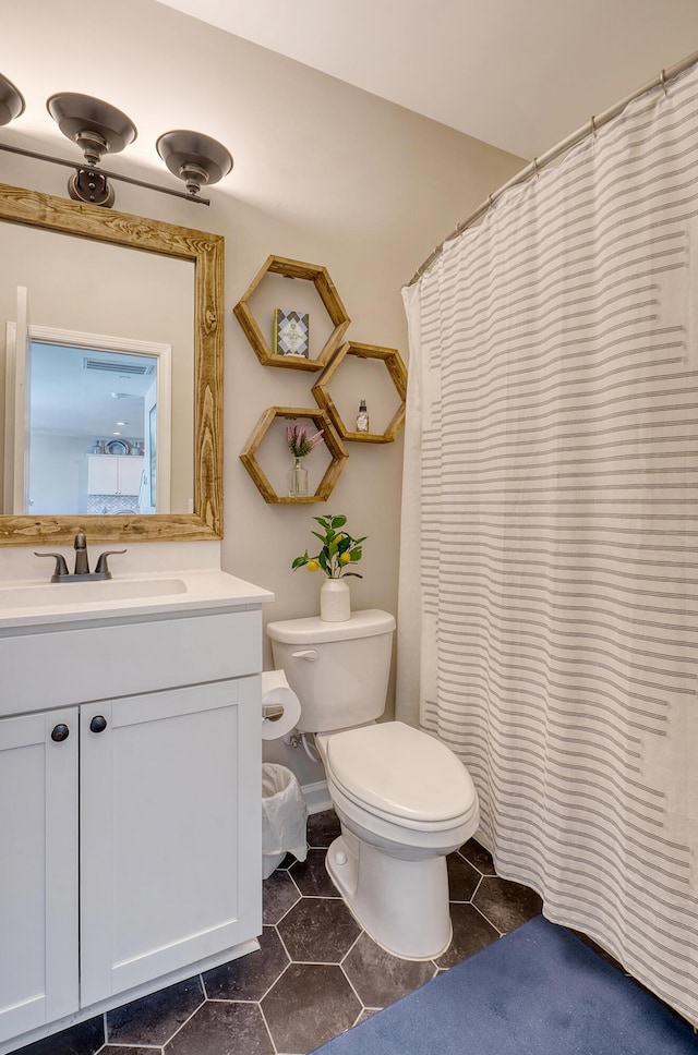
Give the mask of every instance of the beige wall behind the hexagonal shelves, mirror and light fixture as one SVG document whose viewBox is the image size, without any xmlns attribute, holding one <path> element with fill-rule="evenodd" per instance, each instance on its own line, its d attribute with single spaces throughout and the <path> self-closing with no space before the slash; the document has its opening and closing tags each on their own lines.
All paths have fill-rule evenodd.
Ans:
<svg viewBox="0 0 698 1055">
<path fill-rule="evenodd" d="M 76 52 L 73 20 L 80 20 L 80 39 L 99 41 L 86 75 L 77 72 L 85 61 Z M 395 611 L 401 438 L 350 444 L 326 505 L 266 505 L 239 452 L 265 408 L 312 407 L 317 375 L 263 367 L 232 307 L 268 254 L 322 264 L 351 316 L 348 337 L 398 348 L 407 362 L 400 287 L 455 223 L 521 168 L 521 159 L 153 0 L 91 9 L 86 22 L 52 0 L 23 0 L 5 12 L 3 50 L 13 61 L 3 73 L 27 96 L 27 116 L 45 105 L 29 98 L 35 34 L 52 45 L 46 59 L 55 66 L 52 90 L 108 99 L 133 118 L 141 142 L 171 128 L 198 128 L 236 158 L 231 175 L 210 190 L 210 208 L 116 184 L 121 210 L 226 237 L 224 569 L 274 591 L 267 619 L 311 615 L 321 582 L 304 570 L 291 573 L 291 559 L 312 545 L 313 516 L 346 513 L 353 534 L 369 535 L 364 578 L 351 580 L 353 606 Z M 115 76 L 118 92 L 109 81 Z M 20 122 L 2 130 L 2 138 L 23 145 Z M 71 156 L 61 136 L 50 144 L 35 140 L 34 148 L 49 145 L 49 153 Z M 152 169 L 130 163 L 128 151 L 109 167 L 178 185 L 153 154 Z M 65 169 L 0 153 L 4 182 L 64 194 L 65 179 Z M 279 306 L 293 306 L 288 284 L 289 304 Z M 371 390 L 362 395 L 371 404 Z M 169 553 L 185 565 L 196 545 Z"/>
</svg>

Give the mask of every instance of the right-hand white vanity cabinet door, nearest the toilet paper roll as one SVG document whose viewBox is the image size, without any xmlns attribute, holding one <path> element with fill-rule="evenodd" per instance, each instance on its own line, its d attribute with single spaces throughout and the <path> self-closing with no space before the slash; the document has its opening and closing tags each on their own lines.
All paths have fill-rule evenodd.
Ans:
<svg viewBox="0 0 698 1055">
<path fill-rule="evenodd" d="M 262 932 L 258 681 L 81 707 L 83 1007 Z"/>
</svg>

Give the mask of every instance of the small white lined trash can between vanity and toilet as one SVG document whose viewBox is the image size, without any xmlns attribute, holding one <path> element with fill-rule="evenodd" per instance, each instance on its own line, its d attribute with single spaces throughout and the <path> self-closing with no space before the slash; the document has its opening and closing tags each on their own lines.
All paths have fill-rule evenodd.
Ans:
<svg viewBox="0 0 698 1055">
<path fill-rule="evenodd" d="M 308 856 L 308 807 L 298 778 L 285 765 L 262 765 L 262 876 L 268 878 L 287 852 Z"/>
</svg>

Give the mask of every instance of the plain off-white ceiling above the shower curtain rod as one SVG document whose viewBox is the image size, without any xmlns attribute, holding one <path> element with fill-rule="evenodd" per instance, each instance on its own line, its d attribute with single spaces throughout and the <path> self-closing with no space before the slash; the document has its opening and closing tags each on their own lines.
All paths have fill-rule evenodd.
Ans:
<svg viewBox="0 0 698 1055">
<path fill-rule="evenodd" d="M 698 50 L 698 0 L 159 0 L 527 159 Z"/>
</svg>

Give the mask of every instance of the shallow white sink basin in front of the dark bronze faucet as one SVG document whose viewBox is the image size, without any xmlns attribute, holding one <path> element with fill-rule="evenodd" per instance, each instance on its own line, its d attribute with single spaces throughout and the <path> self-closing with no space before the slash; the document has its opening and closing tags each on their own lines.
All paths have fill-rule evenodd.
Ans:
<svg viewBox="0 0 698 1055">
<path fill-rule="evenodd" d="M 106 579 L 103 582 L 0 585 L 0 611 L 171 597 L 183 593 L 186 593 L 186 584 L 181 579 Z"/>
</svg>

